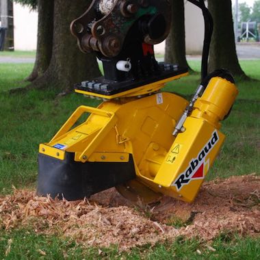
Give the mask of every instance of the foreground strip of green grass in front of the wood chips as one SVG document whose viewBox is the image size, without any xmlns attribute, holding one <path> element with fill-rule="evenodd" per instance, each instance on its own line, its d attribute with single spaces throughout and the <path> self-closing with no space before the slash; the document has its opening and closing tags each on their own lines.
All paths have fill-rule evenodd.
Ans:
<svg viewBox="0 0 260 260">
<path fill-rule="evenodd" d="M 9 241 L 9 242 L 8 242 Z M 220 235 L 210 247 L 196 239 L 178 237 L 173 243 L 133 248 L 118 252 L 110 248 L 86 248 L 71 239 L 38 235 L 34 231 L 16 230 L 0 235 L 0 259 L 244 259 L 260 257 L 260 239 Z M 9 243 L 9 244 L 8 244 Z M 10 245 L 10 246 L 9 246 Z M 10 250 L 8 250 L 10 247 Z"/>
</svg>

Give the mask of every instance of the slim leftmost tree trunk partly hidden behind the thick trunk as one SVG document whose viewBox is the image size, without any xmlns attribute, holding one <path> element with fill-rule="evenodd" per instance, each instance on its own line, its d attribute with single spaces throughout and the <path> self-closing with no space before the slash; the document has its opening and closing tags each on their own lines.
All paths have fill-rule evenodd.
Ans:
<svg viewBox="0 0 260 260">
<path fill-rule="evenodd" d="M 34 81 L 49 67 L 53 42 L 53 0 L 38 0 L 38 36 L 36 62 L 26 80 Z"/>
</svg>

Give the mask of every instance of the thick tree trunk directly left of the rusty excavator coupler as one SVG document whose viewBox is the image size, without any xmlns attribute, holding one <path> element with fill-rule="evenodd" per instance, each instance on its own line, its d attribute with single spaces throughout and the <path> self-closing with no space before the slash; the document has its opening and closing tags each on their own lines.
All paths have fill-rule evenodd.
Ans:
<svg viewBox="0 0 260 260">
<path fill-rule="evenodd" d="M 51 62 L 42 77 L 31 87 L 68 90 L 75 83 L 101 75 L 94 53 L 79 51 L 77 40 L 70 34 L 70 23 L 86 11 L 90 1 L 54 1 L 54 27 Z"/>
</svg>

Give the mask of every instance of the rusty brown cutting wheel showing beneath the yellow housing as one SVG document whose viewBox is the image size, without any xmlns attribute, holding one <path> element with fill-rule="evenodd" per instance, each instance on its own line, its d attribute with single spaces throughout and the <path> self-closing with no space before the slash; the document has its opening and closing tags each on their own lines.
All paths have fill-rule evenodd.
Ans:
<svg viewBox="0 0 260 260">
<path fill-rule="evenodd" d="M 162 194 L 153 192 L 146 185 L 140 183 L 138 179 L 116 186 L 116 190 L 128 200 L 133 202 L 154 203 L 158 201 Z"/>
</svg>

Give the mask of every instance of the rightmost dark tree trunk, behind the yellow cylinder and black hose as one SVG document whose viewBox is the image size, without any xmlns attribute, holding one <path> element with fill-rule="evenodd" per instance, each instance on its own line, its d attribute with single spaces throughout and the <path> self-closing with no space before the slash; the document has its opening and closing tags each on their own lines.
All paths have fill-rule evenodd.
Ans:
<svg viewBox="0 0 260 260">
<path fill-rule="evenodd" d="M 214 21 L 209 51 L 209 72 L 225 68 L 234 76 L 246 78 L 235 50 L 231 0 L 208 0 L 208 3 Z"/>
</svg>

